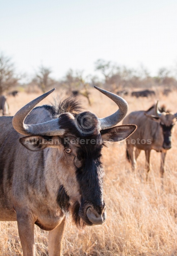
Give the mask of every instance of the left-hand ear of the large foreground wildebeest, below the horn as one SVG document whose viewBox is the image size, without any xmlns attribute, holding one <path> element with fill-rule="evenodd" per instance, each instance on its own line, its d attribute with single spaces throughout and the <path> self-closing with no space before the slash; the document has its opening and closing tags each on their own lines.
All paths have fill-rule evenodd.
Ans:
<svg viewBox="0 0 177 256">
<path fill-rule="evenodd" d="M 53 137 L 31 135 L 19 139 L 20 143 L 31 151 L 39 151 L 46 147 L 56 147 Z M 56 141 L 55 141 L 56 142 Z"/>
</svg>

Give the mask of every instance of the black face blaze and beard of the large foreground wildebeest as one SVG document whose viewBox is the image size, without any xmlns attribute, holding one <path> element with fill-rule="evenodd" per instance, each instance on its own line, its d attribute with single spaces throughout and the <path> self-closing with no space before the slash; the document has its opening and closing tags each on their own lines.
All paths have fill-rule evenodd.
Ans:
<svg viewBox="0 0 177 256">
<path fill-rule="evenodd" d="M 65 129 L 61 138 L 64 148 L 72 148 L 73 140 L 76 145 L 77 164 L 75 174 L 81 194 L 81 204 L 70 204 L 69 196 L 63 186 L 60 186 L 57 202 L 61 210 L 66 214 L 71 212 L 75 225 L 83 228 L 86 224 L 92 225 L 86 215 L 86 207 L 92 202 L 98 213 L 103 208 L 103 175 L 101 163 L 102 137 L 99 131 L 99 121 L 96 116 L 88 111 L 75 113 L 63 113 L 59 116 L 59 126 Z M 79 164 L 78 164 L 79 163 Z"/>
</svg>

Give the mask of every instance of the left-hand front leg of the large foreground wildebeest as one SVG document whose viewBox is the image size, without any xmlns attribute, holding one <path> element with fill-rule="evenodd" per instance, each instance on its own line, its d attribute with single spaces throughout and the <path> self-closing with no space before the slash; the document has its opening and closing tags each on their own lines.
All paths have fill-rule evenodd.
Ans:
<svg viewBox="0 0 177 256">
<path fill-rule="evenodd" d="M 17 213 L 17 224 L 23 256 L 35 256 L 34 218 L 29 214 Z"/>
</svg>

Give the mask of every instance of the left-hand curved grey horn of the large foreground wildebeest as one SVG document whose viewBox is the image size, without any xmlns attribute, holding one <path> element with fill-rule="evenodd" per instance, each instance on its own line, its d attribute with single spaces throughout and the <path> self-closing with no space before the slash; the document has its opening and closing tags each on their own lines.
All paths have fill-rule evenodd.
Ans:
<svg viewBox="0 0 177 256">
<path fill-rule="evenodd" d="M 38 123 L 35 125 L 27 125 L 24 123 L 25 118 L 31 112 L 31 110 L 40 102 L 42 99 L 46 98 L 50 93 L 52 93 L 55 89 L 44 93 L 33 101 L 27 103 L 24 107 L 22 107 L 18 112 L 14 115 L 12 119 L 12 125 L 18 133 L 23 135 L 61 135 L 64 133 L 64 129 L 60 129 L 58 125 L 58 118 L 53 119 L 48 122 Z"/>
</svg>

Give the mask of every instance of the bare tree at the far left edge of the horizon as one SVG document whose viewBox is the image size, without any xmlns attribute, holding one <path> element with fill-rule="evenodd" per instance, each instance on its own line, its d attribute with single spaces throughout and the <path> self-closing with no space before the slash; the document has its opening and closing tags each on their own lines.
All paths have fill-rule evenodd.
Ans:
<svg viewBox="0 0 177 256">
<path fill-rule="evenodd" d="M 3 53 L 0 54 L 0 95 L 15 86 L 20 78 L 15 75 L 14 64 Z"/>
</svg>

